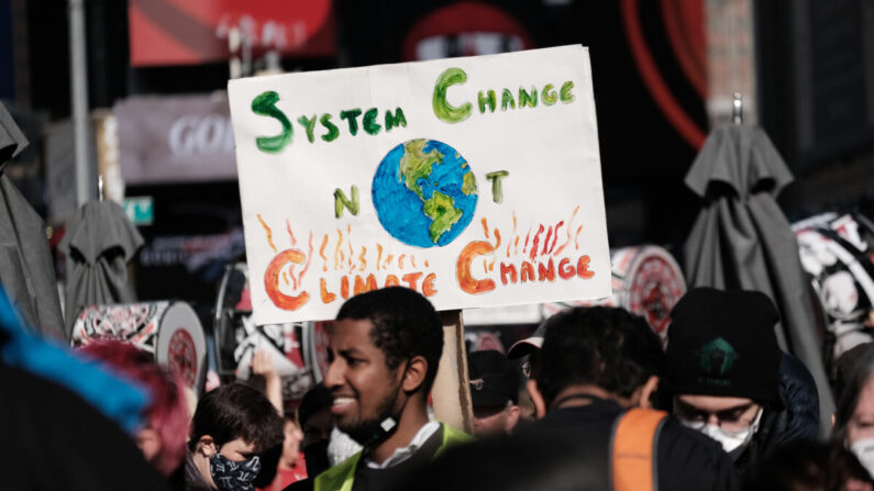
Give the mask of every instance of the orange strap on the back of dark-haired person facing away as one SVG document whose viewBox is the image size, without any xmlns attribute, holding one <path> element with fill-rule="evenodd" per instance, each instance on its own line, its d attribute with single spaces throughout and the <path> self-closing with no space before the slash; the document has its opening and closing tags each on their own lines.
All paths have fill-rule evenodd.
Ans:
<svg viewBox="0 0 874 491">
<path fill-rule="evenodd" d="M 613 491 L 656 491 L 655 445 L 667 414 L 663 411 L 631 409 L 613 426 Z"/>
</svg>

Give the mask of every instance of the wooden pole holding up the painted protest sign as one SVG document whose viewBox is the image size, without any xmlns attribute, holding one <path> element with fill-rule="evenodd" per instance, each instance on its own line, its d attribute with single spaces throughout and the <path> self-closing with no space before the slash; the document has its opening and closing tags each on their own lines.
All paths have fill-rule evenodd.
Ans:
<svg viewBox="0 0 874 491">
<path fill-rule="evenodd" d="M 431 389 L 434 416 L 456 429 L 473 434 L 474 408 L 471 402 L 462 311 L 444 311 L 440 316 L 443 321 L 443 355 Z"/>
</svg>

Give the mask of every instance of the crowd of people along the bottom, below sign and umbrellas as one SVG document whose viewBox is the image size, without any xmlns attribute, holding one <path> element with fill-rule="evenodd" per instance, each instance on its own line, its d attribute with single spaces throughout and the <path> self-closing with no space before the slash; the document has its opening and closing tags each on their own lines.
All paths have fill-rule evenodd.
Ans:
<svg viewBox="0 0 874 491">
<path fill-rule="evenodd" d="M 778 320 L 763 293 L 710 288 L 681 299 L 666 339 L 621 308 L 567 309 L 506 355 L 468 354 L 468 435 L 431 410 L 440 316 L 390 287 L 342 305 L 324 380 L 292 412 L 264 356 L 252 367 L 264 390 L 231 383 L 195 401 L 151 355 L 86 346 L 82 359 L 150 395 L 126 435 L 70 390 L 0 364 L 10 391 L 40 387 L 0 404 L 0 458 L 18 462 L 9 489 L 874 490 L 874 345 L 837 361 L 821 428 L 818 388 L 778 347 Z M 60 401 L 66 414 L 38 424 Z M 90 426 L 54 435 L 70 417 Z M 45 472 L 29 460 L 38 453 Z"/>
</svg>

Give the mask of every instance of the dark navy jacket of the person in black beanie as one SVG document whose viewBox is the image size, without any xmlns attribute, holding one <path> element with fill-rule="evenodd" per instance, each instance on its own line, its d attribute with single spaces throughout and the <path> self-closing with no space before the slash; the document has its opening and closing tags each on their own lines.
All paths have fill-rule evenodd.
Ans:
<svg viewBox="0 0 874 491">
<path fill-rule="evenodd" d="M 783 354 L 777 401 L 765 408 L 759 432 L 737 459 L 745 473 L 750 466 L 776 447 L 797 439 L 816 439 L 819 433 L 819 395 L 814 377 L 797 358 Z"/>
</svg>

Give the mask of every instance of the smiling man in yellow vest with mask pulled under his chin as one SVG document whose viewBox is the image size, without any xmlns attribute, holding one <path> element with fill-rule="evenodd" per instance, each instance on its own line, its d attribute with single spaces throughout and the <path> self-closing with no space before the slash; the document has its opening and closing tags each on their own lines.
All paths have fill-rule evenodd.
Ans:
<svg viewBox="0 0 874 491">
<path fill-rule="evenodd" d="M 338 427 L 364 450 L 316 478 L 316 491 L 389 489 L 469 437 L 429 422 L 428 393 L 443 328 L 421 294 L 391 287 L 353 297 L 338 313 L 324 378 Z"/>
</svg>

